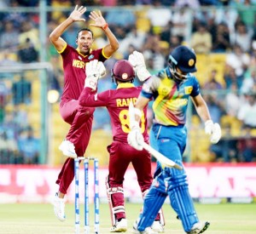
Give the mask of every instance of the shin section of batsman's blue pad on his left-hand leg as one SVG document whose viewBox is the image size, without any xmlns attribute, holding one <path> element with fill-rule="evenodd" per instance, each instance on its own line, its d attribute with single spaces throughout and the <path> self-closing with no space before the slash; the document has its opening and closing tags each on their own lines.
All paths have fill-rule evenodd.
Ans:
<svg viewBox="0 0 256 234">
<path fill-rule="evenodd" d="M 144 231 L 146 227 L 151 226 L 160 208 L 166 200 L 166 193 L 157 191 L 152 187 L 144 199 L 143 214 L 138 222 L 137 230 Z"/>
</svg>

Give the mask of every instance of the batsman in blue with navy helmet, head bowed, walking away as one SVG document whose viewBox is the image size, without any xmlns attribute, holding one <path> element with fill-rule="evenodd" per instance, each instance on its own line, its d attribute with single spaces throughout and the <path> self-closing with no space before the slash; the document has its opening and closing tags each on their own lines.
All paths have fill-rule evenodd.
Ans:
<svg viewBox="0 0 256 234">
<path fill-rule="evenodd" d="M 148 71 L 141 56 L 134 52 L 129 56 L 137 75 L 148 77 Z M 186 147 L 187 128 L 186 110 L 189 97 L 201 120 L 205 123 L 206 134 L 210 135 L 212 144 L 221 137 L 218 123 L 212 123 L 207 104 L 200 94 L 199 83 L 194 76 L 196 56 L 192 49 L 178 46 L 169 55 L 168 66 L 156 76 L 149 77 L 143 83 L 143 90 L 137 99 L 135 108 L 131 108 L 128 143 L 137 150 L 143 150 L 141 134 L 141 111 L 154 98 L 153 133 L 160 153 L 183 167 L 183 152 Z M 133 121 L 132 121 L 133 119 Z M 135 233 L 154 233 L 148 229 L 160 210 L 166 197 L 170 198 L 172 208 L 182 221 L 183 230 L 189 234 L 202 233 L 207 230 L 208 222 L 200 222 L 189 194 L 187 175 L 183 170 L 167 168 L 157 163 L 154 181 L 144 199 L 143 214 L 134 225 Z"/>
</svg>

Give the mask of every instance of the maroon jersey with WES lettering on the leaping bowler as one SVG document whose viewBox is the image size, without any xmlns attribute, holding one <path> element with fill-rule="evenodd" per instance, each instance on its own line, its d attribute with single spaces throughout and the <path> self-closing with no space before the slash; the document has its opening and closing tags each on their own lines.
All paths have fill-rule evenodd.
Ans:
<svg viewBox="0 0 256 234">
<path fill-rule="evenodd" d="M 84 88 L 85 64 L 90 60 L 104 62 L 108 58 L 103 55 L 102 49 L 91 50 L 90 54 L 80 54 L 67 44 L 67 47 L 59 52 L 63 60 L 64 88 L 61 95 L 61 105 L 69 100 L 79 100 L 79 95 Z"/>
</svg>

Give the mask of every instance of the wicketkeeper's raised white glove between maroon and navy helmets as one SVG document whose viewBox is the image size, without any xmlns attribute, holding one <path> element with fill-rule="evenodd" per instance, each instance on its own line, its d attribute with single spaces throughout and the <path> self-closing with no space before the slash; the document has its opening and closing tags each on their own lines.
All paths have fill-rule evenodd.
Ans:
<svg viewBox="0 0 256 234">
<path fill-rule="evenodd" d="M 145 60 L 142 53 L 134 51 L 132 54 L 129 55 L 128 60 L 133 66 L 133 69 L 141 82 L 148 79 L 148 77 L 151 77 L 151 74 L 146 68 Z"/>
</svg>

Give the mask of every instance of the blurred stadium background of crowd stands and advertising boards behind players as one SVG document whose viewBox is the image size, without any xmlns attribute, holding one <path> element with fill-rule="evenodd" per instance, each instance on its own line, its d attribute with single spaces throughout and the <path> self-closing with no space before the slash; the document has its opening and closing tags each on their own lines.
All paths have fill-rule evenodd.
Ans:
<svg viewBox="0 0 256 234">
<path fill-rule="evenodd" d="M 10 0 L 0 3 L 3 203 L 45 202 L 54 193 L 55 176 L 65 160 L 58 146 L 69 126 L 59 114 L 63 86 L 61 56 L 49 43 L 49 32 L 67 18 L 76 3 L 87 6 L 85 26 L 90 24 L 90 10 L 100 9 L 119 39 L 119 51 L 105 62 L 108 75 L 100 81 L 99 92 L 114 88 L 110 68 L 116 60 L 127 59 L 133 49 L 143 52 L 153 73 L 166 66 L 166 56 L 178 44 L 195 49 L 196 77 L 213 121 L 222 126 L 223 139 L 216 146 L 210 145 L 203 123 L 189 104 L 189 139 L 184 162 L 191 182 L 196 181 L 191 189 L 193 197 L 213 197 L 218 202 L 223 197 L 227 201 L 235 197 L 239 198 L 236 202 L 253 202 L 256 197 L 256 3 L 209 0 L 187 1 L 184 5 L 185 2 Z M 67 43 L 75 46 L 80 27 L 79 23 L 73 24 L 64 33 Z M 94 46 L 102 47 L 106 43 L 102 31 L 92 30 Z M 150 114 L 148 119 L 151 120 Z M 108 113 L 98 108 L 87 156 L 99 157 L 102 181 L 107 173 L 106 147 L 110 142 Z M 134 180 L 136 184 L 132 169 L 127 176 L 125 180 Z M 204 185 L 212 186 L 212 190 L 204 189 Z M 140 197 L 137 191 L 133 188 L 127 197 Z M 73 189 L 69 194 L 72 201 Z M 102 197 L 103 194 L 104 187 Z"/>
</svg>

